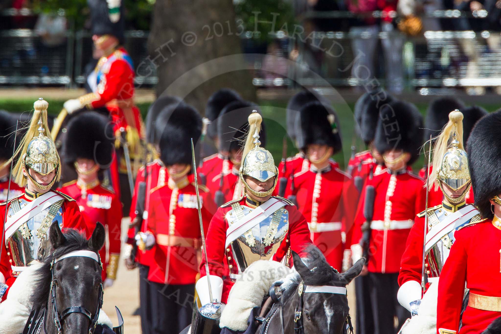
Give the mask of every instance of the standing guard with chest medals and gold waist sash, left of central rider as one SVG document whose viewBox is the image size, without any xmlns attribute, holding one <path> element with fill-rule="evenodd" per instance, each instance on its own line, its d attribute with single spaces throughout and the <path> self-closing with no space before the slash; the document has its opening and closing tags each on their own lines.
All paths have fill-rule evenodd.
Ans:
<svg viewBox="0 0 501 334">
<path fill-rule="evenodd" d="M 168 171 L 168 179 L 150 190 L 147 230 L 136 239 L 138 244 L 143 241 L 147 249 L 152 248 L 148 271 L 151 332 L 177 334 L 190 322 L 198 274 L 201 234 L 190 140 L 193 139 L 198 157 L 202 119 L 193 107 L 184 103 L 163 113 L 167 113 L 168 120 L 158 124 L 163 129 L 160 159 Z M 208 189 L 203 185 L 199 189 L 206 230 L 215 206 Z M 168 314 L 174 314 L 176 320 L 172 321 Z"/>
</svg>

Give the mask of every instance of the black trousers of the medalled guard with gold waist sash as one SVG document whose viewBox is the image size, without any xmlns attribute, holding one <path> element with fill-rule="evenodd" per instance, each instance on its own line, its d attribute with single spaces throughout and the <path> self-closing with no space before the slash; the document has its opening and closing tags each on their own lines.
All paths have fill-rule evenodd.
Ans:
<svg viewBox="0 0 501 334">
<path fill-rule="evenodd" d="M 152 334 L 179 334 L 191 323 L 195 284 L 150 284 Z"/>
</svg>

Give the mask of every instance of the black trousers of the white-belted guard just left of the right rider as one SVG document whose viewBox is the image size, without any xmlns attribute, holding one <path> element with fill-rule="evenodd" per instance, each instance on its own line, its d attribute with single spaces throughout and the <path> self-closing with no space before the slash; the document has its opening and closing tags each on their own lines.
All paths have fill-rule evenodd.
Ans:
<svg viewBox="0 0 501 334">
<path fill-rule="evenodd" d="M 391 334 L 400 330 L 410 312 L 397 301 L 398 273 L 369 272 L 370 298 L 374 319 L 374 334 Z M 395 328 L 394 317 L 398 318 Z"/>
</svg>

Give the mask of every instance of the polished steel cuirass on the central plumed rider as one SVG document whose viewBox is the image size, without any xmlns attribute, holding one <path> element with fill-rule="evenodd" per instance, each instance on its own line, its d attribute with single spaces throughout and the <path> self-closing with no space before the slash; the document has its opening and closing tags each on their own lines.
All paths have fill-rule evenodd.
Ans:
<svg viewBox="0 0 501 334">
<path fill-rule="evenodd" d="M 248 206 L 233 204 L 232 210 L 226 213 L 228 225 L 239 221 L 253 210 Z M 288 231 L 289 212 L 282 207 L 240 235 L 230 245 L 237 264 L 237 268 L 231 268 L 231 272 L 240 274 L 255 261 L 271 259 L 286 238 Z"/>
</svg>

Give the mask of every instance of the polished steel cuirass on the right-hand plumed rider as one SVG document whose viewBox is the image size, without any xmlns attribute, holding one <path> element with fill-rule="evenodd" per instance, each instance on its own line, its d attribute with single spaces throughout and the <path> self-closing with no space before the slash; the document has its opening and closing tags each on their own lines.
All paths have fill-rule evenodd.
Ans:
<svg viewBox="0 0 501 334">
<path fill-rule="evenodd" d="M 428 212 L 428 231 L 433 231 L 433 228 L 445 218 L 447 218 L 447 213 L 451 214 L 450 211 L 445 210 L 443 207 L 438 208 L 434 211 Z M 426 255 L 427 265 L 430 273 L 428 277 L 439 277 L 442 271 L 443 265 L 447 257 L 449 256 L 450 247 L 454 243 L 454 232 L 455 229 L 444 234 L 442 238 L 429 250 Z"/>
</svg>

